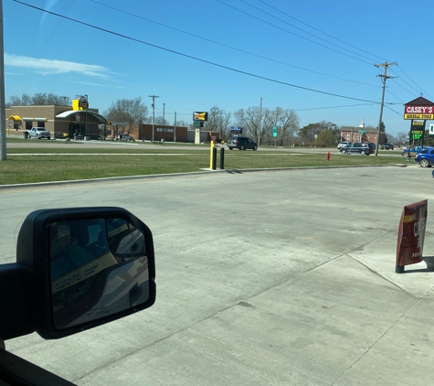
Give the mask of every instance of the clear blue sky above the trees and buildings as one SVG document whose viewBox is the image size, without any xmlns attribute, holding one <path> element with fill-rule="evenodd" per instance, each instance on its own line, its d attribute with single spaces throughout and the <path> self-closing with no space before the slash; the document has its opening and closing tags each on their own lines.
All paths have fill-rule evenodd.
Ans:
<svg viewBox="0 0 434 386">
<path fill-rule="evenodd" d="M 86 94 L 102 113 L 136 97 L 150 108 L 158 95 L 156 115 L 164 106 L 169 122 L 176 112 L 190 123 L 194 111 L 233 113 L 262 98 L 263 108 L 294 110 L 301 127 L 376 126 L 384 68 L 375 64 L 386 61 L 397 62 L 386 133 L 408 132 L 404 103 L 434 101 L 432 0 L 20 2 L 3 0 L 6 101 Z"/>
</svg>

